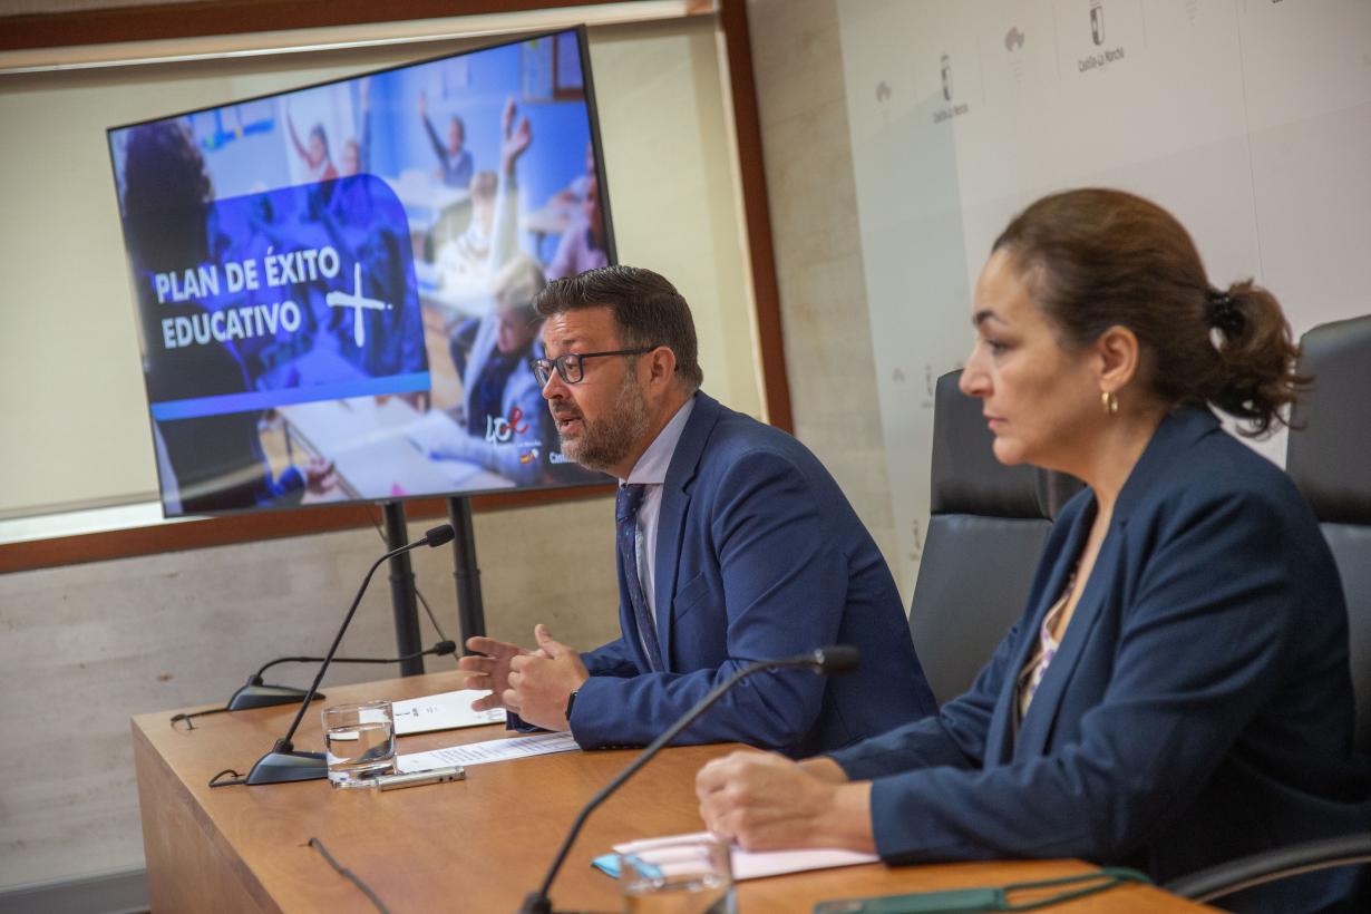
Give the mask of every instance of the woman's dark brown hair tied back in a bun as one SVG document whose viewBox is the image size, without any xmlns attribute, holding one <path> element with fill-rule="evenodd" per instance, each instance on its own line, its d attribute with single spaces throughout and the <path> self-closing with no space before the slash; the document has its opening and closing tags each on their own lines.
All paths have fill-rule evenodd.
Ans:
<svg viewBox="0 0 1371 914">
<path fill-rule="evenodd" d="M 1250 280 L 1216 289 L 1190 234 L 1169 212 L 1121 190 L 1043 197 L 995 240 L 1065 345 L 1112 326 L 1152 358 L 1143 381 L 1167 404 L 1212 403 L 1257 436 L 1285 422 L 1307 378 L 1281 304 Z"/>
</svg>

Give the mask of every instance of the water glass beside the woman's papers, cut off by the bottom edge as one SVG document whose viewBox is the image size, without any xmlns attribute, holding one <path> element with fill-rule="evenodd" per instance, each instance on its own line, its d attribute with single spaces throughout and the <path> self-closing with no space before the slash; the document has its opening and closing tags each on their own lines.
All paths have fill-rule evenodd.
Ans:
<svg viewBox="0 0 1371 914">
<path fill-rule="evenodd" d="M 629 914 L 735 914 L 728 845 L 710 835 L 643 841 L 620 858 Z"/>
</svg>

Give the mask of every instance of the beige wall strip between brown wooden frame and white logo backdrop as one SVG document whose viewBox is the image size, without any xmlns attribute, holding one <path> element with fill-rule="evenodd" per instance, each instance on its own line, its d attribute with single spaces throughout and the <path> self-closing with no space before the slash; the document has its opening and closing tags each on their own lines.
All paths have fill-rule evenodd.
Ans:
<svg viewBox="0 0 1371 914">
<path fill-rule="evenodd" d="M 795 433 L 897 569 L 838 15 L 832 0 L 749 0 L 747 15 Z"/>
</svg>

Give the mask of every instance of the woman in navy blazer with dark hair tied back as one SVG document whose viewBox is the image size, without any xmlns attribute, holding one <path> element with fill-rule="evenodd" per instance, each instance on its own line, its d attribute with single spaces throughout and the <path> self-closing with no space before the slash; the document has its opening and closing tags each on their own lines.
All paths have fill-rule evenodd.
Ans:
<svg viewBox="0 0 1371 914">
<path fill-rule="evenodd" d="M 1257 434 L 1294 399 L 1275 299 L 1212 288 L 1160 207 L 1073 190 L 1009 225 L 972 321 L 961 386 L 995 456 L 1089 484 L 1024 615 L 936 717 L 801 763 L 707 765 L 706 825 L 749 848 L 1082 856 L 1156 880 L 1371 829 L 1333 558 L 1289 477 L 1209 411 Z M 1366 892 L 1339 870 L 1230 903 L 1371 910 Z"/>
</svg>

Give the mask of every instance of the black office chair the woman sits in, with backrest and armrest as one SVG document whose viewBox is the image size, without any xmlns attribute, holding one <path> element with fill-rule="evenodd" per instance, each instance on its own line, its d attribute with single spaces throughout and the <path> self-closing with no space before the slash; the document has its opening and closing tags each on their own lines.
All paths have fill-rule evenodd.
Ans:
<svg viewBox="0 0 1371 914">
<path fill-rule="evenodd" d="M 1291 414 L 1286 470 L 1313 507 L 1342 577 L 1356 707 L 1355 745 L 1371 758 L 1371 315 L 1324 323 L 1300 340 L 1313 391 Z M 1371 863 L 1371 833 L 1307 841 L 1172 881 L 1211 902 L 1313 870 Z"/>
</svg>

